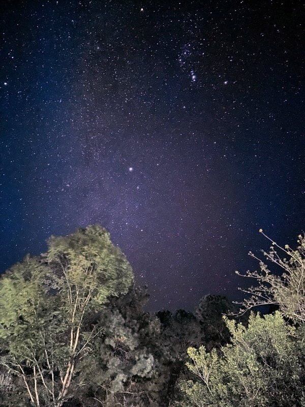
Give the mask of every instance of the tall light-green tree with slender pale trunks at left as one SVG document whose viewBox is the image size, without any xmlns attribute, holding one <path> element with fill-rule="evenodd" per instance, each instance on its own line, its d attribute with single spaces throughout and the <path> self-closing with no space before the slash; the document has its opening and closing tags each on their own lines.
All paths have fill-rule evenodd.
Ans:
<svg viewBox="0 0 305 407">
<path fill-rule="evenodd" d="M 80 367 L 94 357 L 100 334 L 90 315 L 132 281 L 127 259 L 99 225 L 51 237 L 46 254 L 28 255 L 7 271 L 0 280 L 0 362 L 12 375 L 8 405 L 62 406 L 88 380 Z"/>
</svg>

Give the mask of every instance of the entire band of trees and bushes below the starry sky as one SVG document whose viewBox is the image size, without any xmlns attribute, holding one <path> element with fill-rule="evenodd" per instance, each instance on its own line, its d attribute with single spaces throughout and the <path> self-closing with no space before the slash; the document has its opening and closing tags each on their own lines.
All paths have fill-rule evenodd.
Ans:
<svg viewBox="0 0 305 407">
<path fill-rule="evenodd" d="M 250 253 L 260 270 L 241 308 L 208 295 L 149 313 L 106 229 L 52 236 L 0 277 L 0 404 L 305 407 L 305 239 L 271 243 L 280 272 Z"/>
</svg>

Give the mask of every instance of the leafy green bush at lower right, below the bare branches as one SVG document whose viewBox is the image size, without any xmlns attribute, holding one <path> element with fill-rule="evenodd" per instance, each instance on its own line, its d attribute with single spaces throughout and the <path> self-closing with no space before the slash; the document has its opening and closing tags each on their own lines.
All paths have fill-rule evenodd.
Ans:
<svg viewBox="0 0 305 407">
<path fill-rule="evenodd" d="M 229 321 L 231 344 L 206 352 L 189 348 L 188 368 L 196 379 L 182 382 L 184 407 L 303 407 L 303 332 L 280 312 L 251 314 L 249 326 Z"/>
</svg>

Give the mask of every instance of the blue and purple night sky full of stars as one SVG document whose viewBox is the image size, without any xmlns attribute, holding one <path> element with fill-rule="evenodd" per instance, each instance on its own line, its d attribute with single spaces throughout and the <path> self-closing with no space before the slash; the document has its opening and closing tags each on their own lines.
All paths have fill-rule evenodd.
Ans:
<svg viewBox="0 0 305 407">
<path fill-rule="evenodd" d="M 295 244 L 302 2 L 24 0 L 0 18 L 1 272 L 100 223 L 149 310 L 193 309 L 240 298 L 259 228 Z"/>
</svg>

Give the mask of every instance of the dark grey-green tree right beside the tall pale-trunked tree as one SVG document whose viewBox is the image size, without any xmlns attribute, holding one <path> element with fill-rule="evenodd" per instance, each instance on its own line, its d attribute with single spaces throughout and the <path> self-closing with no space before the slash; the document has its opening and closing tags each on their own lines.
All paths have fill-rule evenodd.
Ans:
<svg viewBox="0 0 305 407">
<path fill-rule="evenodd" d="M 93 361 L 86 360 L 83 373 L 92 371 L 74 395 L 74 405 L 86 407 L 159 407 L 166 390 L 164 366 L 156 344 L 160 322 L 143 310 L 147 287 L 131 286 L 126 295 L 110 298 L 99 312 L 102 335 L 93 341 Z"/>
</svg>

